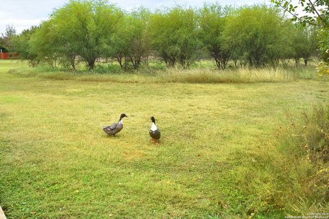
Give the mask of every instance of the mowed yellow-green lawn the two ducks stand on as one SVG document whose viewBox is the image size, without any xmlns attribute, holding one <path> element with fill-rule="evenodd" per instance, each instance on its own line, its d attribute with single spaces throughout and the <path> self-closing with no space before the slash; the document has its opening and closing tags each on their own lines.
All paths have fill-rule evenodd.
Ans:
<svg viewBox="0 0 329 219">
<path fill-rule="evenodd" d="M 303 196 L 274 142 L 326 81 L 119 83 L 21 77 L 0 62 L 8 218 L 282 218 Z M 133 81 L 130 81 L 133 82 Z M 129 118 L 117 137 L 102 125 Z M 162 131 L 149 142 L 149 117 Z M 298 170 L 300 171 L 300 170 Z"/>
</svg>

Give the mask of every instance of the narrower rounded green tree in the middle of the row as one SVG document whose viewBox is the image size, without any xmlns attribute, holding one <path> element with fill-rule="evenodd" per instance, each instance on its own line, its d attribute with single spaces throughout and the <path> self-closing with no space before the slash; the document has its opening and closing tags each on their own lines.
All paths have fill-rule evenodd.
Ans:
<svg viewBox="0 0 329 219">
<path fill-rule="evenodd" d="M 150 20 L 151 44 L 167 66 L 187 67 L 195 60 L 200 46 L 197 14 L 191 8 L 176 6 L 158 11 Z"/>
</svg>

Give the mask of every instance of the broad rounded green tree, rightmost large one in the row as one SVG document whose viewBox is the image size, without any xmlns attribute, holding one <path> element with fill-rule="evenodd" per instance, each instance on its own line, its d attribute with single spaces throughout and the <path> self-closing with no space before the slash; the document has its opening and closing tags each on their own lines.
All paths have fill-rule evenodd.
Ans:
<svg viewBox="0 0 329 219">
<path fill-rule="evenodd" d="M 236 10 L 226 21 L 223 38 L 234 58 L 249 66 L 276 66 L 289 51 L 289 29 L 276 8 L 254 5 Z"/>
</svg>

